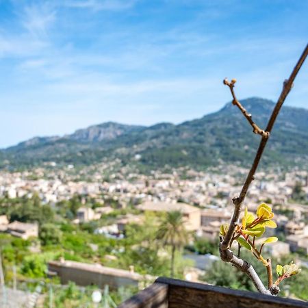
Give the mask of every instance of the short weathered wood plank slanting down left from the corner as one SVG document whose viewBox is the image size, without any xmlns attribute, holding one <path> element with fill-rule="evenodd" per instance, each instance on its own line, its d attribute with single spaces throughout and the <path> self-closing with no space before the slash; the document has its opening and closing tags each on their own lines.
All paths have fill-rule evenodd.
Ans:
<svg viewBox="0 0 308 308">
<path fill-rule="evenodd" d="M 118 308 L 168 308 L 168 285 L 153 283 L 125 300 Z"/>
</svg>

